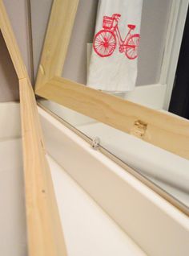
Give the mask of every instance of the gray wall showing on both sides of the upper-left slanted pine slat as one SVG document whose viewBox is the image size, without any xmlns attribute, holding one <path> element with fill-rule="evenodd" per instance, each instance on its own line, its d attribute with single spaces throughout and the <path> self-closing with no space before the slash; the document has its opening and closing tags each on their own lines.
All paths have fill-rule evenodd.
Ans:
<svg viewBox="0 0 189 256">
<path fill-rule="evenodd" d="M 32 77 L 31 62 L 31 41 L 29 30 L 29 8 L 27 0 L 4 0 L 6 10 L 10 17 L 10 22 L 14 29 L 14 34 L 18 40 L 23 60 L 26 68 Z M 18 78 L 15 74 L 13 64 L 10 60 L 6 44 L 0 33 L 0 102 L 17 101 Z"/>
</svg>

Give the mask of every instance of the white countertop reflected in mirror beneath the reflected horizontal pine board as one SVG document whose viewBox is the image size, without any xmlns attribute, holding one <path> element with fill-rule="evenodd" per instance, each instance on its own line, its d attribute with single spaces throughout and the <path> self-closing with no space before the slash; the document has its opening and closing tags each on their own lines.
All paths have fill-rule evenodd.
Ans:
<svg viewBox="0 0 189 256">
<path fill-rule="evenodd" d="M 94 123 L 78 126 L 90 138 L 98 136 L 100 144 L 135 170 L 187 191 L 189 197 L 189 161 L 159 147 L 107 126 Z"/>
</svg>

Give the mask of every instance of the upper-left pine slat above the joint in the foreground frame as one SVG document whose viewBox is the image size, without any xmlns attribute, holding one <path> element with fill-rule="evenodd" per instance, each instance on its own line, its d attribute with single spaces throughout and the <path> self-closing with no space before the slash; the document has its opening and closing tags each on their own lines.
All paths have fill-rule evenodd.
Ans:
<svg viewBox="0 0 189 256">
<path fill-rule="evenodd" d="M 26 67 L 23 63 L 22 56 L 18 49 L 18 44 L 14 37 L 14 32 L 10 25 L 10 20 L 8 19 L 2 0 L 0 0 L 0 30 L 2 31 L 2 36 L 6 42 L 6 47 L 10 53 L 10 57 L 17 72 L 18 79 L 27 77 L 28 75 Z"/>
</svg>

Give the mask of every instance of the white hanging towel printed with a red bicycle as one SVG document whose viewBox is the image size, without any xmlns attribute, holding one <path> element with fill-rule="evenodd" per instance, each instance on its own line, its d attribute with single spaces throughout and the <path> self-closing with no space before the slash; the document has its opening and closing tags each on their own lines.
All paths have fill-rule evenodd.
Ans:
<svg viewBox="0 0 189 256">
<path fill-rule="evenodd" d="M 143 0 L 99 0 L 87 86 L 131 91 L 137 77 Z"/>
</svg>

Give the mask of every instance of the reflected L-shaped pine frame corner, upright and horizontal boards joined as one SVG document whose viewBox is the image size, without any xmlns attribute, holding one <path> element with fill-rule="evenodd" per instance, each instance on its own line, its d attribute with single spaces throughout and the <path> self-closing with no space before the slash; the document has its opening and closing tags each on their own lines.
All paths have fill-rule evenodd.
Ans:
<svg viewBox="0 0 189 256">
<path fill-rule="evenodd" d="M 54 0 L 35 93 L 189 159 L 189 121 L 61 77 L 79 0 Z"/>
</svg>

